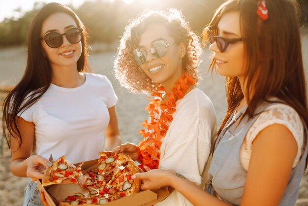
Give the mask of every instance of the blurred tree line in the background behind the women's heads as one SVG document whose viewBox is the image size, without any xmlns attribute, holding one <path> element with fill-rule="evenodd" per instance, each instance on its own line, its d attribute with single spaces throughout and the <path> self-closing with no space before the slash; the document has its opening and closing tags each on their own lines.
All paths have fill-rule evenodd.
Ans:
<svg viewBox="0 0 308 206">
<path fill-rule="evenodd" d="M 298 1 L 302 9 L 301 22 L 308 23 L 308 1 Z M 201 33 L 222 2 L 224 0 L 134 0 L 132 3 L 125 3 L 123 0 L 86 0 L 78 8 L 68 6 L 85 24 L 89 33 L 89 43 L 103 42 L 110 45 L 119 41 L 127 21 L 146 8 L 180 9 L 191 28 Z M 44 4 L 35 2 L 33 9 L 25 12 L 20 18 L 5 18 L 0 22 L 0 47 L 26 45 L 31 20 Z M 22 14 L 23 11 L 18 8 L 15 12 Z"/>
</svg>

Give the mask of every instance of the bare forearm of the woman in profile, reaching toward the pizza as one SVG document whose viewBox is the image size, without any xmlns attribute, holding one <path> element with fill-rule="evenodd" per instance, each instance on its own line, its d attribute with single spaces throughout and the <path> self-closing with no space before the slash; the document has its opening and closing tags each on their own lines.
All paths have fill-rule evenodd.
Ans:
<svg viewBox="0 0 308 206">
<path fill-rule="evenodd" d="M 230 206 L 185 178 L 172 175 L 169 181 L 170 186 L 179 191 L 194 206 Z"/>
</svg>

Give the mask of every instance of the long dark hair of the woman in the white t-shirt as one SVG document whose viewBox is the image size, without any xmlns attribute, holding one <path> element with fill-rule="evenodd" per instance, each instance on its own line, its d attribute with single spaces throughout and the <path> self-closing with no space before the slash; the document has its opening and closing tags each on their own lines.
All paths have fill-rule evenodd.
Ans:
<svg viewBox="0 0 308 206">
<path fill-rule="evenodd" d="M 14 137 L 19 142 L 19 146 L 22 143 L 21 134 L 16 123 L 17 114 L 37 102 L 47 91 L 51 83 L 51 67 L 49 60 L 44 56 L 40 33 L 43 22 L 54 13 L 68 14 L 75 20 L 77 26 L 83 29 L 83 37 L 81 39 L 82 53 L 77 61 L 77 70 L 90 71 L 87 31 L 79 17 L 69 7 L 60 3 L 48 3 L 44 5 L 34 16 L 29 29 L 27 43 L 28 59 L 24 76 L 8 94 L 3 103 L 2 128 L 5 140 L 10 149 L 11 137 Z"/>
</svg>

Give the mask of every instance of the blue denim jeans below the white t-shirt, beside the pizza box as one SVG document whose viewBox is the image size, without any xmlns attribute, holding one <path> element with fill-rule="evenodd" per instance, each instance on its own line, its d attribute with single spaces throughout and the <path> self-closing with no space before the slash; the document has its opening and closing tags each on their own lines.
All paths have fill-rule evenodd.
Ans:
<svg viewBox="0 0 308 206">
<path fill-rule="evenodd" d="M 23 206 L 43 206 L 40 201 L 40 193 L 36 182 L 32 182 L 30 178 L 25 189 L 25 201 Z"/>
</svg>

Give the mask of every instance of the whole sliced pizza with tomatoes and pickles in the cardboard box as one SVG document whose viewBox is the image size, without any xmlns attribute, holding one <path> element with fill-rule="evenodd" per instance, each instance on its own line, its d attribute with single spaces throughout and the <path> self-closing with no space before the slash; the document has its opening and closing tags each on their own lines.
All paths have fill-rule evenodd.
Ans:
<svg viewBox="0 0 308 206">
<path fill-rule="evenodd" d="M 87 194 L 75 193 L 61 200 L 70 205 L 102 205 L 140 191 L 140 180 L 131 178 L 139 170 L 128 155 L 110 151 L 100 152 L 97 169 L 81 170 L 82 164 L 75 167 L 62 156 L 48 168 L 48 171 L 46 170 L 43 186 L 73 183 L 86 187 Z M 65 174 L 65 171 L 69 172 Z"/>
</svg>

